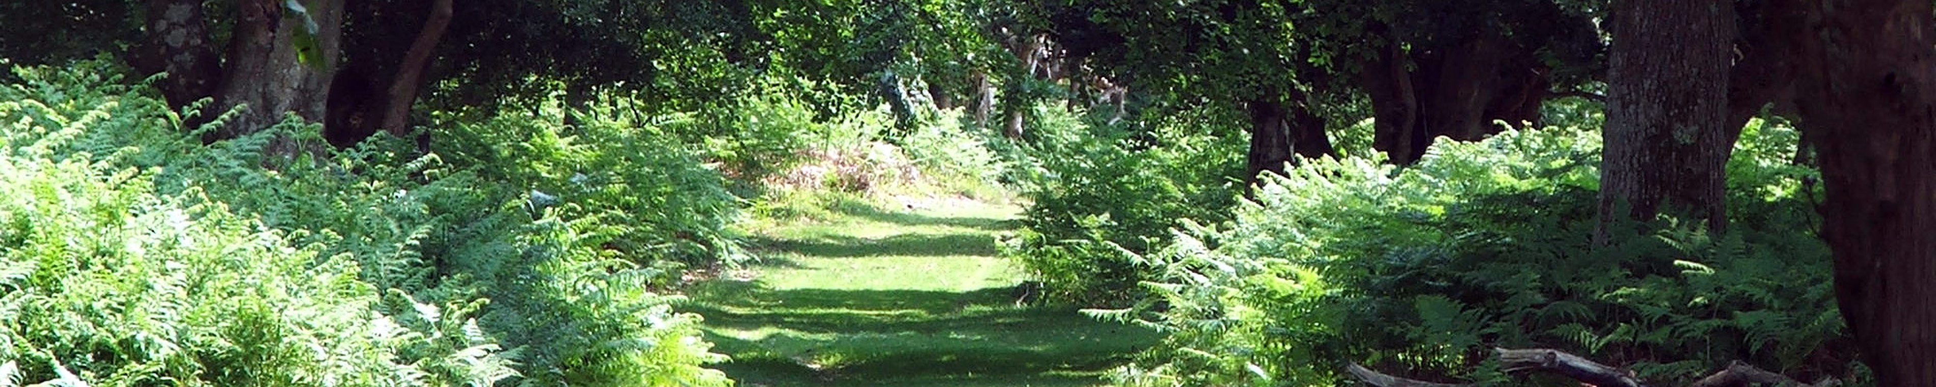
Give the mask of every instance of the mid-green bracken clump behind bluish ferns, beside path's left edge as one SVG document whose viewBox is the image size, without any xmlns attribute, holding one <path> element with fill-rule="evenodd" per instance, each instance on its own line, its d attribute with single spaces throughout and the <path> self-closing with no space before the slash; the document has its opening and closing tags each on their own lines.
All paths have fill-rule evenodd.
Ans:
<svg viewBox="0 0 1936 387">
<path fill-rule="evenodd" d="M 596 219 L 598 244 L 612 257 L 639 265 L 709 265 L 747 259 L 728 226 L 740 199 L 718 170 L 701 164 L 691 145 L 670 132 L 695 122 L 685 114 L 629 116 L 598 112 L 565 128 L 563 112 L 505 112 L 482 122 L 453 122 L 451 164 L 474 166 L 529 197 L 525 211 L 554 209 L 560 219 Z M 666 275 L 678 267 L 666 269 Z"/>
</svg>

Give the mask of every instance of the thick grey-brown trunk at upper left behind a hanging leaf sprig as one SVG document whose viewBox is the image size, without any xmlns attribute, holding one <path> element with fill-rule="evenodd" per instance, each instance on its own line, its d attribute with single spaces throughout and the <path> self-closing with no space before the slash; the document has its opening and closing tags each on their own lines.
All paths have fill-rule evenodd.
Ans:
<svg viewBox="0 0 1936 387">
<path fill-rule="evenodd" d="M 296 60 L 290 37 L 302 21 L 283 17 L 281 2 L 236 4 L 234 33 L 215 106 L 217 112 L 242 104 L 248 110 L 223 126 L 217 137 L 254 134 L 283 120 L 283 112 L 323 120 L 329 75 L 341 52 L 337 46 L 343 31 L 343 0 L 316 0 L 306 6 L 321 27 L 316 33 L 321 68 Z"/>
</svg>

